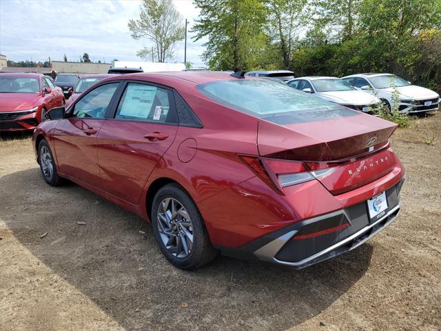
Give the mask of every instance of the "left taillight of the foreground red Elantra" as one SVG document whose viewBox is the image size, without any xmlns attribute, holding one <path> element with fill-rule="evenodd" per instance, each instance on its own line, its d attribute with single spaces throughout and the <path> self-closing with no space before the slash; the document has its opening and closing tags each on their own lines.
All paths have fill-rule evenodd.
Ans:
<svg viewBox="0 0 441 331">
<path fill-rule="evenodd" d="M 311 181 L 323 174 L 309 171 L 302 161 L 269 159 L 252 155 L 239 155 L 240 159 L 253 170 L 267 185 L 283 194 L 286 186 Z M 327 169 L 327 172 L 332 171 Z"/>
</svg>

